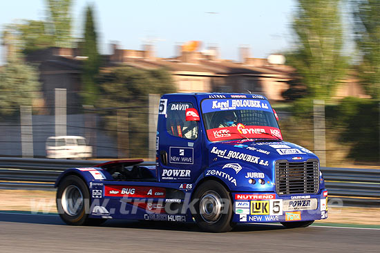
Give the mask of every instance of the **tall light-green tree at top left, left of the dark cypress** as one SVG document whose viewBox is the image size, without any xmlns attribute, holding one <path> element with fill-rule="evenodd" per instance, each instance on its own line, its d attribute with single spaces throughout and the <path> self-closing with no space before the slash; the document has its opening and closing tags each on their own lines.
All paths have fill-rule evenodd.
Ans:
<svg viewBox="0 0 380 253">
<path fill-rule="evenodd" d="M 48 6 L 48 34 L 53 34 L 55 46 L 72 47 L 71 0 L 46 0 Z"/>
</svg>

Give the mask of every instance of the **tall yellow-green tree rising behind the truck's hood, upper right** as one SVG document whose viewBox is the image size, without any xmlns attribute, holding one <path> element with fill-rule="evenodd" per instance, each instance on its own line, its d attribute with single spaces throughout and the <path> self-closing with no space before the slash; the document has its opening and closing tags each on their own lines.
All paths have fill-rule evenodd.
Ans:
<svg viewBox="0 0 380 253">
<path fill-rule="evenodd" d="M 287 63 L 296 69 L 307 88 L 307 100 L 330 99 L 345 76 L 343 32 L 339 0 L 299 0 L 292 28 L 296 49 Z"/>
</svg>

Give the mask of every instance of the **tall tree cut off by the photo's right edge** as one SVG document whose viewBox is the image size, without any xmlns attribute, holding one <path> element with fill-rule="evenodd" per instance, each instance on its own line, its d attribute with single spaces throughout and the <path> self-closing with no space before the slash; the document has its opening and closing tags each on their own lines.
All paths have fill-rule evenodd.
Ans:
<svg viewBox="0 0 380 253">
<path fill-rule="evenodd" d="M 359 78 L 372 99 L 380 99 L 380 1 L 352 0 L 354 33 L 362 57 Z"/>
</svg>

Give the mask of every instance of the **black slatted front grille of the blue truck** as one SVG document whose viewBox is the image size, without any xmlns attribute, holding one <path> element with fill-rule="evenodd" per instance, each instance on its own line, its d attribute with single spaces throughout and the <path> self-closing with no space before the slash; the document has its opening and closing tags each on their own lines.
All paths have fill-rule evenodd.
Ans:
<svg viewBox="0 0 380 253">
<path fill-rule="evenodd" d="M 276 192 L 285 194 L 315 194 L 319 189 L 318 160 L 305 162 L 276 161 Z"/>
</svg>

